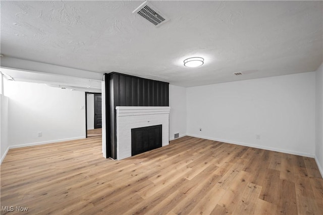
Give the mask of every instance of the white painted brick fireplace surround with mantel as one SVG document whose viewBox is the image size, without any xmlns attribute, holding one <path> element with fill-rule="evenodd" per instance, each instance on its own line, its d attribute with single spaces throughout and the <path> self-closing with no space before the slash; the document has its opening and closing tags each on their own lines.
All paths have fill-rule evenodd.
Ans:
<svg viewBox="0 0 323 215">
<path fill-rule="evenodd" d="M 169 106 L 117 106 L 117 159 L 131 156 L 131 129 L 162 125 L 162 146 L 169 144 Z"/>
</svg>

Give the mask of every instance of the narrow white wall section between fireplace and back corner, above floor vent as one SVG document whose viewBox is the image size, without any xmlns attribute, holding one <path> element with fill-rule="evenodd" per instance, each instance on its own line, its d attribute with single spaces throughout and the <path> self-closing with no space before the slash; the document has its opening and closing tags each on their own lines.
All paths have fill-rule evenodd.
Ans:
<svg viewBox="0 0 323 215">
<path fill-rule="evenodd" d="M 186 88 L 169 85 L 170 96 L 170 140 L 174 134 L 186 135 Z"/>
</svg>

